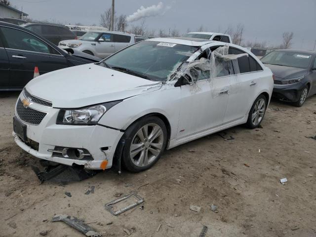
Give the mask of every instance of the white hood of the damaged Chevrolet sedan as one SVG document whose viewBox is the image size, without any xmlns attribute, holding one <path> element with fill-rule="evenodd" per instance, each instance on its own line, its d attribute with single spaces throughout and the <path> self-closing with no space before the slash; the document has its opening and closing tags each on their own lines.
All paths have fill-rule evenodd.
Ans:
<svg viewBox="0 0 316 237">
<path fill-rule="evenodd" d="M 135 77 L 95 64 L 84 64 L 43 74 L 26 89 L 57 108 L 80 108 L 122 100 L 158 90 L 162 83 Z"/>
</svg>

